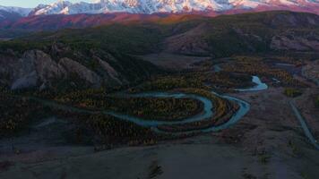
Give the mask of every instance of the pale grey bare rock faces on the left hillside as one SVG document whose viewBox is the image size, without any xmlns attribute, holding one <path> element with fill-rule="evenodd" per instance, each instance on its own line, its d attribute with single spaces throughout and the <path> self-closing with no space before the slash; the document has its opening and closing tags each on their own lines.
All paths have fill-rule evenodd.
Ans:
<svg viewBox="0 0 319 179">
<path fill-rule="evenodd" d="M 74 75 L 93 86 L 99 87 L 100 78 L 95 72 L 69 58 L 57 63 L 40 50 L 25 52 L 21 58 L 7 55 L 0 57 L 0 80 L 2 86 L 12 90 L 25 88 L 48 88 L 55 81 L 68 80 Z"/>
</svg>

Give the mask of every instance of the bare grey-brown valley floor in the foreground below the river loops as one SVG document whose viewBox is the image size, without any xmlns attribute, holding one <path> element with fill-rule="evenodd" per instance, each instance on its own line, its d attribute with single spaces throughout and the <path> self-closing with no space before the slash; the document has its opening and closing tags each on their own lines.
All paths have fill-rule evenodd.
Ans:
<svg viewBox="0 0 319 179">
<path fill-rule="evenodd" d="M 234 127 L 151 147 L 95 152 L 93 147 L 56 147 L 65 141 L 40 147 L 41 140 L 33 140 L 32 149 L 28 141 L 14 154 L 4 146 L 19 139 L 0 141 L 0 178 L 316 178 L 318 151 L 307 141 L 281 88 L 231 95 L 252 106 Z M 309 104 L 296 100 L 297 107 Z"/>
</svg>

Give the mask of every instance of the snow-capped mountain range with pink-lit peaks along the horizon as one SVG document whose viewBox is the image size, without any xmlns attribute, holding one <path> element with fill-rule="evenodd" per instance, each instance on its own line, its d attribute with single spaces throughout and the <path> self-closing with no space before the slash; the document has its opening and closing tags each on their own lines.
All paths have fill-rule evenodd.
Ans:
<svg viewBox="0 0 319 179">
<path fill-rule="evenodd" d="M 188 13 L 264 9 L 305 9 L 319 12 L 319 0 L 98 0 L 93 3 L 39 4 L 30 15 L 76 13 Z"/>
</svg>

